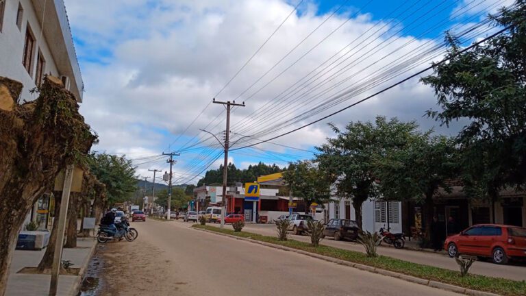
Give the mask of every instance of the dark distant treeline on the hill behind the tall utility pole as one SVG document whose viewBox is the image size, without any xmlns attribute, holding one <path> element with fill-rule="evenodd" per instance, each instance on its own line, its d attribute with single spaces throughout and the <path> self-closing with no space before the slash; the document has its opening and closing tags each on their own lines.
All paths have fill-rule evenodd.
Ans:
<svg viewBox="0 0 526 296">
<path fill-rule="evenodd" d="M 236 182 L 254 182 L 255 180 L 258 180 L 258 177 L 261 175 L 270 175 L 284 170 L 285 169 L 279 168 L 276 164 L 268 165 L 262 162 L 250 165 L 248 169 L 242 170 L 236 168 L 236 165 L 234 164 L 228 164 L 228 182 L 229 184 L 235 184 Z M 207 171 L 205 177 L 197 182 L 197 186 L 203 186 L 203 184 L 223 184 L 223 165 L 221 165 L 219 169 Z"/>
</svg>

